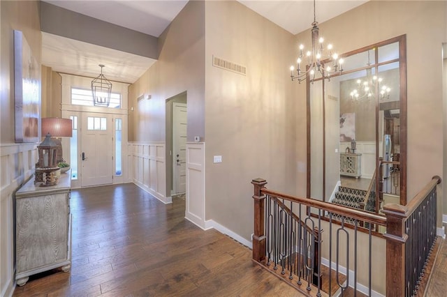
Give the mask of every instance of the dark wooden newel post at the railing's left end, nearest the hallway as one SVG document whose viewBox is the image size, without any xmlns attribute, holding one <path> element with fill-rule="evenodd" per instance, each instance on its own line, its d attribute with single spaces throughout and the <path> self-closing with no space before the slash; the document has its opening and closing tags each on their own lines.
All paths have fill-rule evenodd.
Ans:
<svg viewBox="0 0 447 297">
<path fill-rule="evenodd" d="M 265 195 L 261 194 L 261 189 L 264 188 L 267 181 L 263 178 L 256 178 L 251 183 L 254 185 L 253 259 L 254 261 L 261 262 L 265 259 Z"/>
</svg>

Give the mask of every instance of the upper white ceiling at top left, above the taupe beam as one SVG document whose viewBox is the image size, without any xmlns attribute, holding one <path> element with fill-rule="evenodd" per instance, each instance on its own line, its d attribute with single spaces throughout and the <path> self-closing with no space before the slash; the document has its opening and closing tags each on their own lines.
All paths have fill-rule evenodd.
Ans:
<svg viewBox="0 0 447 297">
<path fill-rule="evenodd" d="M 44 2 L 159 37 L 188 0 L 45 0 Z"/>
</svg>

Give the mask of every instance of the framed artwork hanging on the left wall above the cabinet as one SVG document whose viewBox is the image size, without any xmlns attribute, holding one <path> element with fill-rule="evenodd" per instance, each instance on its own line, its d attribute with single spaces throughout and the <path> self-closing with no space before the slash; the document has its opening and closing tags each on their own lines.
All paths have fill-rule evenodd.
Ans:
<svg viewBox="0 0 447 297">
<path fill-rule="evenodd" d="M 38 142 L 41 66 L 22 31 L 14 30 L 15 142 Z"/>
</svg>

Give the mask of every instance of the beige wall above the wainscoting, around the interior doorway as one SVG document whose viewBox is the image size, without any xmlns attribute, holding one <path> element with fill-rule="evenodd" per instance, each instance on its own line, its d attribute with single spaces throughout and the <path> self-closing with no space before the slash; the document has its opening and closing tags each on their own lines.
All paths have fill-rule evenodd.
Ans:
<svg viewBox="0 0 447 297">
<path fill-rule="evenodd" d="M 205 137 L 205 3 L 190 1 L 159 38 L 159 60 L 129 87 L 129 141 L 165 142 L 166 100 L 187 91 L 188 141 Z M 150 100 L 136 101 L 142 93 Z"/>
</svg>

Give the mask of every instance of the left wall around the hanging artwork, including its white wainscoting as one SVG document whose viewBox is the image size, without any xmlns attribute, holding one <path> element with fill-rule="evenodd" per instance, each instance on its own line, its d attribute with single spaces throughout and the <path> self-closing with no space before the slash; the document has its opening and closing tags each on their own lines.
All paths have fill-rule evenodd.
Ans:
<svg viewBox="0 0 447 297">
<path fill-rule="evenodd" d="M 14 144 L 13 30 L 27 39 L 41 63 L 38 1 L 0 1 L 0 296 L 10 296 L 14 284 L 13 193 L 34 172 L 35 144 Z M 39 77 L 39 84 L 41 77 Z"/>
</svg>

